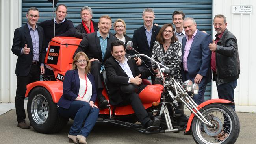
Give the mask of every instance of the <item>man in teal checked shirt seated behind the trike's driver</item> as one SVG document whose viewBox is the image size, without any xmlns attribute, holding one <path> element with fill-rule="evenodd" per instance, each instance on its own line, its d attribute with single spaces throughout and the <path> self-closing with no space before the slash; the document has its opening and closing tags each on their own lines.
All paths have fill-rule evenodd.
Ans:
<svg viewBox="0 0 256 144">
<path fill-rule="evenodd" d="M 75 56 L 76 53 L 83 51 L 90 59 L 91 74 L 95 78 L 97 100 L 100 109 L 108 107 L 108 101 L 102 95 L 103 85 L 100 72 L 104 69 L 105 61 L 111 57 L 110 44 L 117 40 L 113 35 L 109 35 L 109 30 L 112 26 L 111 22 L 111 17 L 108 15 L 101 16 L 98 23 L 99 30 L 85 35 L 74 53 Z"/>
</svg>

